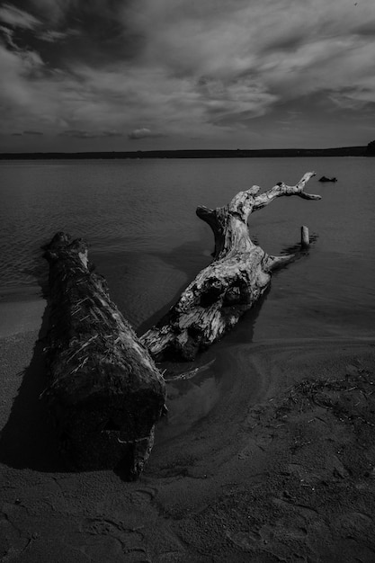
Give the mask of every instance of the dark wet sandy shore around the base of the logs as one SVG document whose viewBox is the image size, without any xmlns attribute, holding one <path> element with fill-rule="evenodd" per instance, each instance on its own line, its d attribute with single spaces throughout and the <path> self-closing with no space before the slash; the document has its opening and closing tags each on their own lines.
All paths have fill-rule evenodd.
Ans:
<svg viewBox="0 0 375 563">
<path fill-rule="evenodd" d="M 64 470 L 39 400 L 44 308 L 0 305 L 2 561 L 375 560 L 375 339 L 213 347 L 168 384 L 127 483 Z"/>
</svg>

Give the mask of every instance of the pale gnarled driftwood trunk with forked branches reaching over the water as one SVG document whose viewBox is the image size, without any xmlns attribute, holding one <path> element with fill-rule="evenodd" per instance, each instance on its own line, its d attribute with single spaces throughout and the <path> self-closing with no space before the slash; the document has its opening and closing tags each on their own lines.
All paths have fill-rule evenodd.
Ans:
<svg viewBox="0 0 375 563">
<path fill-rule="evenodd" d="M 141 342 L 155 358 L 163 359 L 165 353 L 172 353 L 183 360 L 193 360 L 200 350 L 235 326 L 260 298 L 270 283 L 272 270 L 289 263 L 294 255 L 270 256 L 254 245 L 248 233 L 248 216 L 284 195 L 319 200 L 320 196 L 304 192 L 313 175 L 308 172 L 295 186 L 278 183 L 261 194 L 260 188 L 253 186 L 237 193 L 224 207 L 197 209 L 198 217 L 213 230 L 214 260 L 183 291 L 165 317 L 141 336 Z"/>
</svg>

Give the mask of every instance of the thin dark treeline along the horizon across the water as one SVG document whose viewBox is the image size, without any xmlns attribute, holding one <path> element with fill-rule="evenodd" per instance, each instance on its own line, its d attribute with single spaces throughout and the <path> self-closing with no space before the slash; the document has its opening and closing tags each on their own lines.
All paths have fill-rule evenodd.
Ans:
<svg viewBox="0 0 375 563">
<path fill-rule="evenodd" d="M 0 153 L 0 160 L 40 160 L 47 158 L 259 158 L 277 156 L 371 156 L 368 147 L 265 148 L 260 150 L 137 150 L 127 152 L 82 153 Z"/>
</svg>

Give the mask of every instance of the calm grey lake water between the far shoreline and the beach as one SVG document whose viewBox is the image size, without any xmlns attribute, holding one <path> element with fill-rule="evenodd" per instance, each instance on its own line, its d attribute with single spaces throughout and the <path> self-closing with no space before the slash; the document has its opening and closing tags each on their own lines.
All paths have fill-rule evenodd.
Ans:
<svg viewBox="0 0 375 563">
<path fill-rule="evenodd" d="M 310 170 L 317 176 L 307 191 L 321 201 L 280 198 L 249 220 L 253 239 L 274 255 L 299 243 L 307 225 L 315 239 L 308 255 L 273 275 L 260 307 L 220 346 L 372 336 L 375 158 L 1 162 L 1 296 L 40 292 L 48 274 L 40 246 L 65 230 L 88 241 L 112 299 L 142 333 L 210 263 L 213 237 L 197 205 L 225 205 L 253 184 L 294 184 Z M 338 182 L 319 183 L 323 174 Z M 209 375 L 205 401 L 217 392 Z"/>
</svg>

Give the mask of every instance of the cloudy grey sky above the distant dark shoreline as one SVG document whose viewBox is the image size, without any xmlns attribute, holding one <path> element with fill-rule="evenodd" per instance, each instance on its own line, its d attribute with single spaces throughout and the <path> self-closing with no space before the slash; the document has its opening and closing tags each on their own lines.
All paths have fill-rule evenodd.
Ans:
<svg viewBox="0 0 375 563">
<path fill-rule="evenodd" d="M 0 151 L 375 139 L 374 0 L 0 4 Z"/>
</svg>

